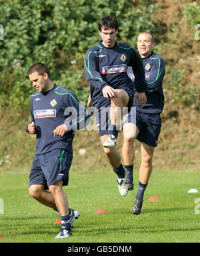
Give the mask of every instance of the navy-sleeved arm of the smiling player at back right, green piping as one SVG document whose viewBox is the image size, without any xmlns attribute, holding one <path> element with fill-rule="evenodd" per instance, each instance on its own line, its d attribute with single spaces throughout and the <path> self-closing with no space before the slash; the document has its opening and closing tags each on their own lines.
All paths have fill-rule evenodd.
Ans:
<svg viewBox="0 0 200 256">
<path fill-rule="evenodd" d="M 162 84 L 165 76 L 165 61 L 162 58 L 153 58 L 153 65 L 149 70 L 149 77 L 147 78 L 147 84 L 149 90 L 157 90 L 158 86 Z"/>
</svg>

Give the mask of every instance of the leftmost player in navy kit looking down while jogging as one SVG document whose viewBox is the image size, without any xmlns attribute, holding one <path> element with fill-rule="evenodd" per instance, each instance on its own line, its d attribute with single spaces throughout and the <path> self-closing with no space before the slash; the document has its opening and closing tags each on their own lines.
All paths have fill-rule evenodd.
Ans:
<svg viewBox="0 0 200 256">
<path fill-rule="evenodd" d="M 28 74 L 37 90 L 31 96 L 31 122 L 26 126 L 27 132 L 37 134 L 29 194 L 59 212 L 61 231 L 55 238 L 71 237 L 79 213 L 69 209 L 63 186 L 69 182 L 74 130 L 85 127 L 85 108 L 73 92 L 53 84 L 43 63 L 33 64 Z"/>
</svg>

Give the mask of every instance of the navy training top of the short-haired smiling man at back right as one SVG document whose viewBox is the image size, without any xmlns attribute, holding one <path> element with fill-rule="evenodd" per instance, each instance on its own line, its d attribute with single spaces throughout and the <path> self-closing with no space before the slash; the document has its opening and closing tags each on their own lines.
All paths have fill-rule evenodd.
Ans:
<svg viewBox="0 0 200 256">
<path fill-rule="evenodd" d="M 137 105 L 137 102 L 133 101 L 133 106 L 137 108 L 138 112 L 160 114 L 165 104 L 162 86 L 165 76 L 165 61 L 159 55 L 151 52 L 148 57 L 143 58 L 143 64 L 145 67 L 145 80 L 148 84 L 147 92 L 145 92 L 147 103 L 141 107 Z M 135 84 L 135 73 L 131 67 L 128 68 L 127 74 Z M 134 94 L 135 90 L 134 88 Z"/>
</svg>

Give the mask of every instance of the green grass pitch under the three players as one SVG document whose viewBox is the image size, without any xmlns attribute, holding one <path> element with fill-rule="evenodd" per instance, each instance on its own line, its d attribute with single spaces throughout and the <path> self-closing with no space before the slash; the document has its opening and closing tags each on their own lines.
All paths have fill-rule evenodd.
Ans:
<svg viewBox="0 0 200 256">
<path fill-rule="evenodd" d="M 135 189 L 121 197 L 115 173 L 109 171 L 71 171 L 69 186 L 64 187 L 69 205 L 81 216 L 74 223 L 73 237 L 55 240 L 58 213 L 32 199 L 28 194 L 28 173 L 0 174 L 0 198 L 4 214 L 0 215 L 1 243 L 193 243 L 200 241 L 199 215 L 195 199 L 199 193 L 200 173 L 195 171 L 153 172 L 141 215 L 132 215 Z M 149 197 L 159 201 L 148 201 Z M 95 214 L 105 209 L 107 213 Z"/>
</svg>

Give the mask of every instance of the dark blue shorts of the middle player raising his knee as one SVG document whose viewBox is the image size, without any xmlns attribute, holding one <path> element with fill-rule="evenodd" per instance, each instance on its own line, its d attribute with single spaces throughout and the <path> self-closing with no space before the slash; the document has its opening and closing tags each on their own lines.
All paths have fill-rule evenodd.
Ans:
<svg viewBox="0 0 200 256">
<path fill-rule="evenodd" d="M 125 88 L 119 88 L 125 90 Z M 133 92 L 127 88 L 125 90 L 127 94 L 129 95 L 129 104 L 127 106 L 127 109 L 125 110 L 126 112 L 129 112 L 131 109 L 131 106 L 133 106 Z M 109 131 L 109 125 L 111 123 L 111 120 L 109 118 L 109 111 L 110 111 L 110 106 L 111 102 L 106 102 L 105 104 L 102 104 L 105 106 L 100 107 L 95 107 L 95 116 L 96 116 L 96 124 L 97 128 L 99 130 L 99 137 L 108 134 Z"/>
</svg>

